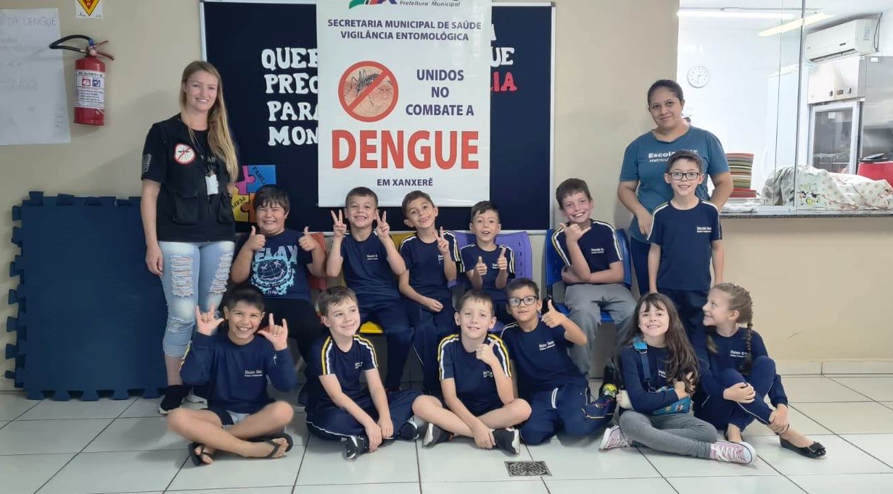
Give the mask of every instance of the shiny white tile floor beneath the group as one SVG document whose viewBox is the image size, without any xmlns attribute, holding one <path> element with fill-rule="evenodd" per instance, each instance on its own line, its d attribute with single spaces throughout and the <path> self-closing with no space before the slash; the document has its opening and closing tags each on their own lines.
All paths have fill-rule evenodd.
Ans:
<svg viewBox="0 0 893 494">
<path fill-rule="evenodd" d="M 354 462 L 341 445 L 311 438 L 304 415 L 288 432 L 296 446 L 279 460 L 220 455 L 188 462 L 186 441 L 167 432 L 157 399 L 31 401 L 0 392 L 0 492 L 206 494 L 518 494 L 893 492 L 893 376 L 789 376 L 791 424 L 820 440 L 819 460 L 780 449 L 765 426 L 745 431 L 760 458 L 728 465 L 647 449 L 597 451 L 597 438 L 555 438 L 520 457 L 467 440 L 432 449 L 394 442 Z M 198 407 L 198 405 L 188 405 Z M 507 460 L 542 460 L 552 473 L 514 477 Z M 512 482 L 508 484 L 508 482 Z"/>
</svg>

